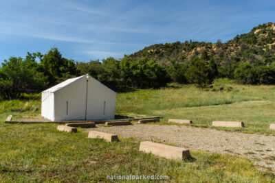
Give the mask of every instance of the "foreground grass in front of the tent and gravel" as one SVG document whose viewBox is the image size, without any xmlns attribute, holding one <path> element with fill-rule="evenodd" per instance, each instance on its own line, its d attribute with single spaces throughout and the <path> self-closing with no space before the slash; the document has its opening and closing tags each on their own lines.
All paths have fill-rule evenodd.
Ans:
<svg viewBox="0 0 275 183">
<path fill-rule="evenodd" d="M 194 160 L 168 160 L 140 152 L 140 141 L 136 138 L 119 136 L 119 142 L 109 143 L 87 138 L 81 128 L 77 133 L 65 133 L 58 132 L 56 127 L 57 124 L 2 122 L 1 182 L 107 182 L 107 175 L 130 174 L 168 175 L 170 182 L 275 180 L 272 173 L 259 171 L 250 160 L 238 156 L 190 151 Z"/>
</svg>

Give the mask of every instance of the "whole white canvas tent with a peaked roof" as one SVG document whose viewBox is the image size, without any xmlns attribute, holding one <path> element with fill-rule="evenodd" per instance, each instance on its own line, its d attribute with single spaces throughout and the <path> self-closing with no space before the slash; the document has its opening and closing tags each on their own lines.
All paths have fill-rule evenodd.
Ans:
<svg viewBox="0 0 275 183">
<path fill-rule="evenodd" d="M 41 115 L 51 121 L 114 119 L 115 97 L 113 90 L 87 74 L 44 90 Z"/>
</svg>

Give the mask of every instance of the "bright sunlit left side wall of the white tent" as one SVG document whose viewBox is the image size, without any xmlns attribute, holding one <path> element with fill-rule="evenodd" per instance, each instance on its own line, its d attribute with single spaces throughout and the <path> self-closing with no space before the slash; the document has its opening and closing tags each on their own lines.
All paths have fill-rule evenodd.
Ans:
<svg viewBox="0 0 275 183">
<path fill-rule="evenodd" d="M 54 121 L 54 93 L 41 93 L 41 116 Z"/>
</svg>

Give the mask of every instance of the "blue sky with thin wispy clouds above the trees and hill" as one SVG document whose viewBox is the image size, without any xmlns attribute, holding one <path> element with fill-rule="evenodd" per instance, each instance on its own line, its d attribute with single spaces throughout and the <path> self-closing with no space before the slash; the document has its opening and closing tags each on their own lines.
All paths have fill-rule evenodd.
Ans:
<svg viewBox="0 0 275 183">
<path fill-rule="evenodd" d="M 58 47 L 88 62 L 185 40 L 223 42 L 274 22 L 275 1 L 0 1 L 0 62 Z"/>
</svg>

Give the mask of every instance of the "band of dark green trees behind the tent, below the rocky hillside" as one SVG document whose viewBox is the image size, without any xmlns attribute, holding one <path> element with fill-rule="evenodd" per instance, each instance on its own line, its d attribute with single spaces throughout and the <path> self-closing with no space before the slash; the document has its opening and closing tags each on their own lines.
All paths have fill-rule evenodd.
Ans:
<svg viewBox="0 0 275 183">
<path fill-rule="evenodd" d="M 75 62 L 63 58 L 53 47 L 45 55 L 27 53 L 25 58 L 10 57 L 0 67 L 0 97 L 14 99 L 22 93 L 37 93 L 71 77 L 89 73 L 115 91 L 127 88 L 160 88 L 169 82 L 210 86 L 216 77 L 229 77 L 243 84 L 275 84 L 274 62 L 253 65 L 250 62 L 234 62 L 220 66 L 207 52 L 188 62 L 170 59 L 166 63 L 157 58 L 124 56 Z"/>
</svg>

